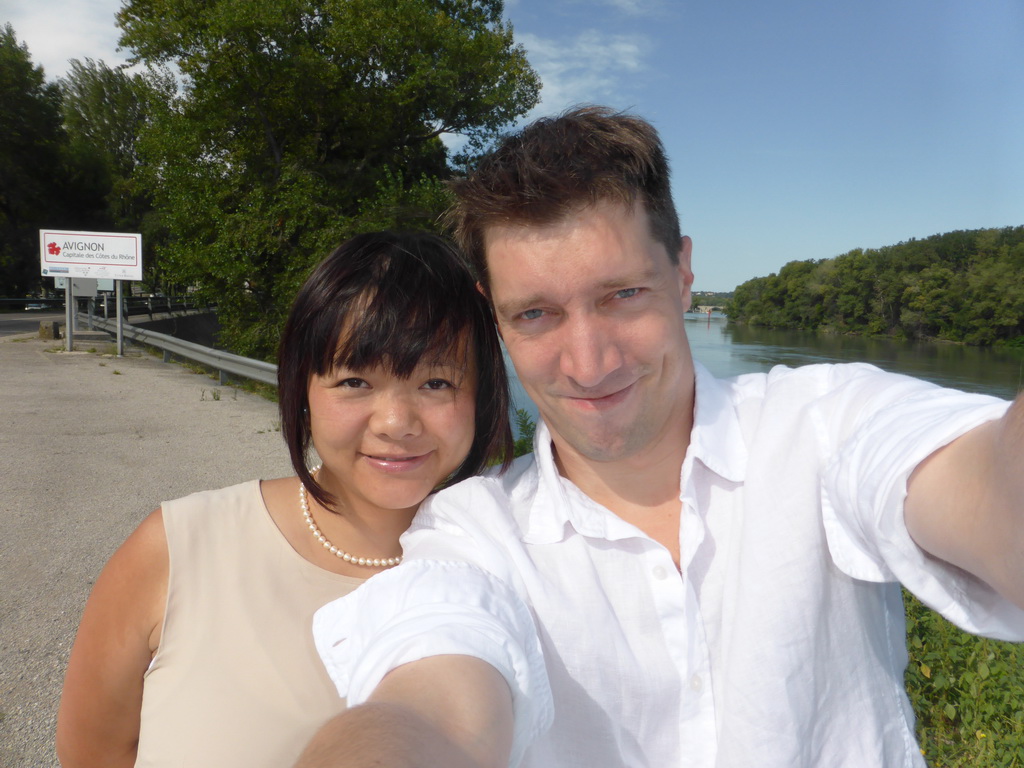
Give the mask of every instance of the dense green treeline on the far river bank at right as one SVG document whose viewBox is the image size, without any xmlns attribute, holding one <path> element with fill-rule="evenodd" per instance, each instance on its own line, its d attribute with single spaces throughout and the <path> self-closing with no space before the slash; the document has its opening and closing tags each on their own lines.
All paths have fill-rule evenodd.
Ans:
<svg viewBox="0 0 1024 768">
<path fill-rule="evenodd" d="M 791 261 L 736 288 L 731 321 L 1024 346 L 1024 226 Z"/>
</svg>

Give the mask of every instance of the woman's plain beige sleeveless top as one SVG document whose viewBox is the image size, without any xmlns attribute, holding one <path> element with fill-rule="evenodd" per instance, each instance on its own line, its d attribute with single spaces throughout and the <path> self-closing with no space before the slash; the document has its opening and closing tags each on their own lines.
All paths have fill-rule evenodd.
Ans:
<svg viewBox="0 0 1024 768">
<path fill-rule="evenodd" d="M 258 480 L 167 502 L 163 513 L 167 607 L 135 765 L 292 765 L 345 706 L 313 647 L 313 611 L 361 580 L 292 549 Z"/>
</svg>

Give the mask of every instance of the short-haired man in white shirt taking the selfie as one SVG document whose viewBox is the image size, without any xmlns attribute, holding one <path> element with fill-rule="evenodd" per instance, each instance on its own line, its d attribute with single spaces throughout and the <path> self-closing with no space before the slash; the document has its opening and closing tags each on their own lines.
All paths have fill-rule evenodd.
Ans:
<svg viewBox="0 0 1024 768">
<path fill-rule="evenodd" d="M 321 611 L 366 703 L 302 764 L 924 765 L 898 585 L 1024 639 L 1024 399 L 860 365 L 711 377 L 637 118 L 542 120 L 455 189 L 536 455 L 428 502 L 407 563 Z"/>
</svg>

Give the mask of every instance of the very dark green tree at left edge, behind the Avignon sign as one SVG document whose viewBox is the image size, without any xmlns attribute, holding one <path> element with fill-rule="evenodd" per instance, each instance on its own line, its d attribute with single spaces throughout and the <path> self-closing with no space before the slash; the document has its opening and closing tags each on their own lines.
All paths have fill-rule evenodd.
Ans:
<svg viewBox="0 0 1024 768">
<path fill-rule="evenodd" d="M 39 234 L 53 226 L 63 183 L 60 92 L 18 43 L 0 31 L 0 295 L 40 285 Z"/>
</svg>

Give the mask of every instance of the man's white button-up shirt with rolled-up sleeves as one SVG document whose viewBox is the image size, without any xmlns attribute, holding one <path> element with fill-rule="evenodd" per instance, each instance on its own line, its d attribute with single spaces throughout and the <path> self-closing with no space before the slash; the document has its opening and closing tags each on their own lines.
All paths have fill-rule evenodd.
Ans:
<svg viewBox="0 0 1024 768">
<path fill-rule="evenodd" d="M 906 481 L 1007 404 L 870 366 L 698 366 L 680 570 L 558 474 L 540 425 L 534 458 L 431 499 L 317 647 L 350 703 L 415 658 L 487 660 L 513 765 L 923 766 L 898 582 L 976 633 L 1024 639 L 1024 611 L 913 545 Z"/>
</svg>

